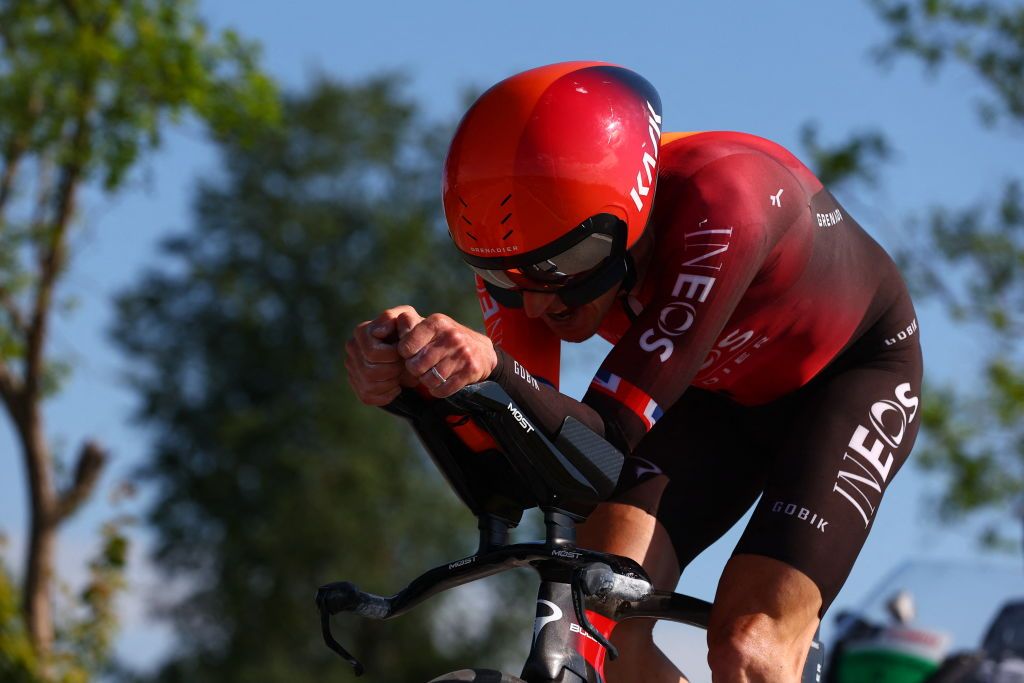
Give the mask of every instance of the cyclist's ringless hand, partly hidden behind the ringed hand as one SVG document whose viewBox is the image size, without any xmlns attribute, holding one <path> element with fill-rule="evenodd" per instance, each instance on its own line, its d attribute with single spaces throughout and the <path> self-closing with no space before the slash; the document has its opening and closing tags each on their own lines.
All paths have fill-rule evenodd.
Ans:
<svg viewBox="0 0 1024 683">
<path fill-rule="evenodd" d="M 406 370 L 396 344 L 422 319 L 412 306 L 395 306 L 355 326 L 345 344 L 345 369 L 360 401 L 387 405 L 398 397 L 401 387 L 416 386 L 418 380 Z"/>
</svg>

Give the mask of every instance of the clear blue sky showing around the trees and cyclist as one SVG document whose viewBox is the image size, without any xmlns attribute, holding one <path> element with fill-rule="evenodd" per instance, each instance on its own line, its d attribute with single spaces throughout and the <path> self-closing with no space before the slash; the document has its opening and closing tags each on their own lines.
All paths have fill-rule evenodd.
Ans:
<svg viewBox="0 0 1024 683">
<path fill-rule="evenodd" d="M 871 62 L 869 51 L 885 33 L 863 2 L 680 2 L 655 8 L 607 1 L 253 0 L 201 2 L 200 8 L 212 26 L 232 27 L 262 43 L 264 66 L 285 88 L 300 89 L 317 74 L 352 80 L 400 72 L 408 92 L 438 119 L 460 113 L 466 87 L 542 63 L 602 59 L 636 70 L 658 88 L 669 131 L 741 130 L 800 156 L 799 129 L 806 121 L 817 122 L 825 140 L 878 128 L 896 147 L 882 189 L 841 199 L 889 247 L 912 247 L 901 227 L 908 212 L 938 202 L 994 199 L 1001 179 L 1020 168 L 1020 139 L 978 125 L 974 104 L 983 92 L 969 75 L 953 69 L 931 80 L 915 62 L 888 72 Z M 52 340 L 53 350 L 71 359 L 76 372 L 46 415 L 62 451 L 73 451 L 87 435 L 111 449 L 115 460 L 104 488 L 139 463 L 147 447 L 144 431 L 129 421 L 132 396 L 120 381 L 123 361 L 105 338 L 110 297 L 156 262 L 162 237 L 190 224 L 196 179 L 216 169 L 215 151 L 186 122 L 146 160 L 128 190 L 116 198 L 93 194 L 84 203 L 77 256 L 65 285 L 80 306 Z M 971 335 L 952 330 L 933 306 L 919 308 L 930 377 L 969 378 L 978 349 Z M 368 310 L 367 317 L 376 312 Z M 568 392 L 582 392 L 601 353 L 600 344 L 566 351 L 577 358 L 563 378 Z M 15 456 L 8 425 L 0 424 L 0 530 L 10 540 L 11 561 L 18 557 L 26 519 L 24 472 Z M 857 602 L 901 561 L 976 555 L 968 529 L 932 520 L 926 505 L 931 492 L 934 484 L 912 467 L 896 477 L 837 607 Z M 60 563 L 72 582 L 110 511 L 97 496 L 62 532 Z M 137 538 L 144 545 L 144 532 Z M 736 538 L 734 531 L 698 559 L 682 588 L 710 597 Z M 126 600 L 129 628 L 119 648 L 144 664 L 169 641 L 166 630 L 144 617 L 141 593 L 154 577 L 141 554 L 137 560 Z M 677 638 L 675 630 L 662 633 Z M 669 647 L 682 649 L 679 643 L 693 640 Z"/>
</svg>

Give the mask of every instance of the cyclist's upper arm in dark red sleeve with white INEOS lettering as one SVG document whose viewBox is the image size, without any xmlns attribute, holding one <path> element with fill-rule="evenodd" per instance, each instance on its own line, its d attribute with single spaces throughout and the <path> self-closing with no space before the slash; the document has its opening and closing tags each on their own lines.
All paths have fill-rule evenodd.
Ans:
<svg viewBox="0 0 1024 683">
<path fill-rule="evenodd" d="M 668 186 L 666 186 L 668 185 Z M 608 354 L 584 400 L 635 449 L 700 370 L 804 191 L 777 162 L 741 154 L 658 193 L 655 294 Z M 773 202 L 771 197 L 777 199 Z M 778 198 L 785 197 L 784 202 Z"/>
</svg>

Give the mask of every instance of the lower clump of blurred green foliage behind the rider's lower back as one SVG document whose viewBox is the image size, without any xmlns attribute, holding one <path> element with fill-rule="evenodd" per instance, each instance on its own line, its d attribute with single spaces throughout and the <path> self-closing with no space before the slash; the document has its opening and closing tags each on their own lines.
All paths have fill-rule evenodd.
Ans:
<svg viewBox="0 0 1024 683">
<path fill-rule="evenodd" d="M 983 539 L 1006 545 L 1024 495 L 1024 203 L 1020 179 L 1001 197 L 935 207 L 916 227 L 928 241 L 906 255 L 919 292 L 971 331 L 980 376 L 933 388 L 921 463 L 948 476 L 940 511 L 980 513 Z M 1016 509 L 1015 509 L 1016 508 Z"/>
</svg>

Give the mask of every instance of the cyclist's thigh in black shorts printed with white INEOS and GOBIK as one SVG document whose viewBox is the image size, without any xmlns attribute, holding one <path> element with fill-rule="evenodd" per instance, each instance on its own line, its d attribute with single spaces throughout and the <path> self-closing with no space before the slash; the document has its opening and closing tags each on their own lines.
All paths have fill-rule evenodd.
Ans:
<svg viewBox="0 0 1024 683">
<path fill-rule="evenodd" d="M 758 411 L 772 459 L 765 492 L 735 553 L 771 557 L 821 591 L 824 614 L 846 582 L 882 496 L 921 424 L 921 348 L 914 338 L 863 353 Z M 842 359 L 841 359 L 842 360 Z"/>
</svg>

